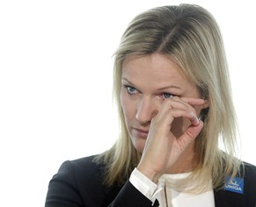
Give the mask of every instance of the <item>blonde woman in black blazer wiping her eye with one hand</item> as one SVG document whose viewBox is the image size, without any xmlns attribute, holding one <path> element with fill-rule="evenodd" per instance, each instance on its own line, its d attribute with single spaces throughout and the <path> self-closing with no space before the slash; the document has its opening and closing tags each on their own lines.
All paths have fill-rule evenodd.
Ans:
<svg viewBox="0 0 256 207">
<path fill-rule="evenodd" d="M 223 41 L 208 11 L 181 4 L 138 15 L 113 80 L 120 138 L 64 162 L 46 206 L 256 205 L 256 168 L 236 158 Z"/>
</svg>

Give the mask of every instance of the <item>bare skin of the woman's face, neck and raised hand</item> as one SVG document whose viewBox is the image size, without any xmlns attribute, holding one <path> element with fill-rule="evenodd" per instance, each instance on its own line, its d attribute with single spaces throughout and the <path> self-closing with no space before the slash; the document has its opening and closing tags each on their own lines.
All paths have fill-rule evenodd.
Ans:
<svg viewBox="0 0 256 207">
<path fill-rule="evenodd" d="M 121 107 L 128 134 L 142 153 L 137 167 L 156 182 L 163 174 L 194 168 L 194 139 L 208 107 L 193 82 L 162 54 L 128 57 L 122 67 Z"/>
</svg>

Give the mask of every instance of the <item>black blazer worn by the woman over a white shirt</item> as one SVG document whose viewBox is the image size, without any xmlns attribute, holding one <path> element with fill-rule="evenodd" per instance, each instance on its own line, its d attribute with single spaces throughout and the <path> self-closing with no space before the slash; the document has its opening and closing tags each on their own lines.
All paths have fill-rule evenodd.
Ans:
<svg viewBox="0 0 256 207">
<path fill-rule="evenodd" d="M 45 207 L 151 207 L 151 201 L 127 181 L 122 186 L 102 184 L 105 166 L 94 156 L 65 161 L 49 182 Z M 216 207 L 256 207 L 256 167 L 245 164 L 244 193 L 214 190 Z M 155 202 L 153 206 L 158 206 Z M 206 203 L 207 207 L 207 203 Z"/>
</svg>

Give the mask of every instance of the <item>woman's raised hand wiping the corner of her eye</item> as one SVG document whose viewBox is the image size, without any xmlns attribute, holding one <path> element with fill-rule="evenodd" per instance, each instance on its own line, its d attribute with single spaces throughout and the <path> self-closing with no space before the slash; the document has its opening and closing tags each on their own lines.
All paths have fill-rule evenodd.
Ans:
<svg viewBox="0 0 256 207">
<path fill-rule="evenodd" d="M 142 159 L 137 167 L 143 175 L 157 182 L 161 175 L 168 173 L 168 169 L 172 168 L 181 153 L 201 132 L 203 123 L 197 118 L 200 111 L 196 111 L 195 107 L 203 103 L 204 100 L 191 97 L 165 99 L 160 111 L 151 120 Z M 179 123 L 184 129 L 180 134 L 171 130 L 175 118 L 188 121 L 187 125 L 185 121 Z"/>
</svg>

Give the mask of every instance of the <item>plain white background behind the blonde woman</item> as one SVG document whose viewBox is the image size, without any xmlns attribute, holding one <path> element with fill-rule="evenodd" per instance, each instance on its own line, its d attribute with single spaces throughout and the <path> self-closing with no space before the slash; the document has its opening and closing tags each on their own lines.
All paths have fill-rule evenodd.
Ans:
<svg viewBox="0 0 256 207">
<path fill-rule="evenodd" d="M 113 145 L 112 55 L 128 22 L 182 1 L 0 2 L 1 206 L 44 206 L 62 161 Z M 213 13 L 223 32 L 242 137 L 255 157 L 256 12 L 253 1 L 187 1 Z"/>
</svg>

